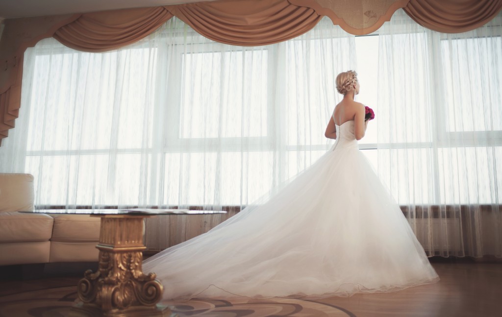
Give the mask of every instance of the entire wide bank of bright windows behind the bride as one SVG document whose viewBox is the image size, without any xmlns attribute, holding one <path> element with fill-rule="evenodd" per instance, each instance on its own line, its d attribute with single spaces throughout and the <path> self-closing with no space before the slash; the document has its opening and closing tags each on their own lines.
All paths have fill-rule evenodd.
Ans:
<svg viewBox="0 0 502 317">
<path fill-rule="evenodd" d="M 249 204 L 332 144 L 324 129 L 340 100 L 334 78 L 349 69 L 361 83 L 356 101 L 376 113 L 359 148 L 399 203 L 502 199 L 500 37 L 398 34 L 403 45 L 391 47 L 388 36 L 329 33 L 328 21 L 323 32 L 246 48 L 169 23 L 178 29 L 108 53 L 52 39 L 27 51 L 26 172 L 37 205 Z M 394 94 L 379 79 L 390 68 Z M 483 76 L 490 85 L 479 95 L 464 89 Z M 404 106 L 390 111 L 391 102 Z M 460 170 L 479 181 L 459 181 Z"/>
</svg>

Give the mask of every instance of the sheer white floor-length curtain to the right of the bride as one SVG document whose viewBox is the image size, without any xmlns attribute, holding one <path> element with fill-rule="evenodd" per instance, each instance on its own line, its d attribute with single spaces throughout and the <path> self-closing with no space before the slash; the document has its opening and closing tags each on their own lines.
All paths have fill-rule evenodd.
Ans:
<svg viewBox="0 0 502 317">
<path fill-rule="evenodd" d="M 378 31 L 378 172 L 428 255 L 502 256 L 501 25 Z"/>
</svg>

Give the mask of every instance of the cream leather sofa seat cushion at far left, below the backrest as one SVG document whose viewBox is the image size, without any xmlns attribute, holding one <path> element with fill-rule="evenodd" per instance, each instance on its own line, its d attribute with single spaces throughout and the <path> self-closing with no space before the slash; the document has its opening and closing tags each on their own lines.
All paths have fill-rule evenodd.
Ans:
<svg viewBox="0 0 502 317">
<path fill-rule="evenodd" d="M 49 241 L 53 222 L 46 214 L 0 213 L 0 243 Z"/>
</svg>

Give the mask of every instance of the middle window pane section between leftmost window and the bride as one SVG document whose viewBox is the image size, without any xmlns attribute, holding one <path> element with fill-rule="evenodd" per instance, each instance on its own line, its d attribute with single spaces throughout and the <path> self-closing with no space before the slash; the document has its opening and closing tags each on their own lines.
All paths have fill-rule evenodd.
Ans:
<svg viewBox="0 0 502 317">
<path fill-rule="evenodd" d="M 264 144 L 273 142 L 268 82 L 274 53 L 228 48 L 194 44 L 174 55 L 170 81 L 181 78 L 181 84 L 166 109 L 163 204 L 211 205 L 217 199 L 240 205 L 271 188 L 273 152 Z"/>
</svg>

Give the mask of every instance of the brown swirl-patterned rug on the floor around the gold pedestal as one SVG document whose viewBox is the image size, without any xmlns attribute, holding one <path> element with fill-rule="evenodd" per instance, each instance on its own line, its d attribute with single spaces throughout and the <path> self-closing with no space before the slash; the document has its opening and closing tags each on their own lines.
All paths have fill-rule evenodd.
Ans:
<svg viewBox="0 0 502 317">
<path fill-rule="evenodd" d="M 19 292 L 0 297 L 0 317 L 69 317 L 75 316 L 72 306 L 78 302 L 75 286 L 56 287 Z M 259 317 L 298 316 L 336 317 L 355 316 L 350 311 L 315 300 L 273 298 L 257 299 L 192 299 L 176 302 L 164 301 L 179 317 Z M 78 314 L 84 316 L 83 314 Z M 90 315 L 89 315 L 90 316 Z"/>
</svg>

